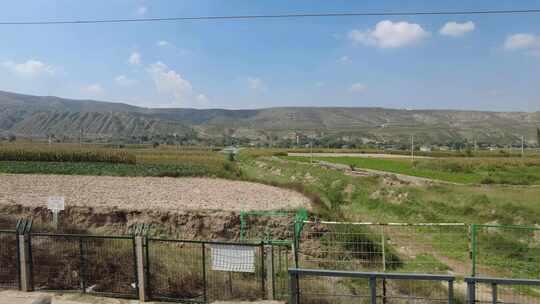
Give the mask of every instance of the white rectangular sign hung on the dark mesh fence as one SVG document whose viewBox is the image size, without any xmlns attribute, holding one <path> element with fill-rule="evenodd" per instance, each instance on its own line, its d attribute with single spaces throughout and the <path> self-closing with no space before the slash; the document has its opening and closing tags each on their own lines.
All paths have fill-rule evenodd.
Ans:
<svg viewBox="0 0 540 304">
<path fill-rule="evenodd" d="M 212 270 L 255 272 L 255 247 L 212 245 Z"/>
</svg>

